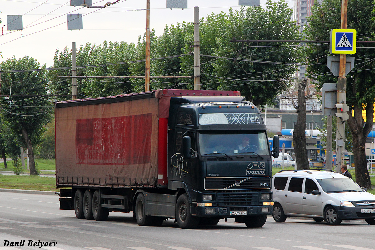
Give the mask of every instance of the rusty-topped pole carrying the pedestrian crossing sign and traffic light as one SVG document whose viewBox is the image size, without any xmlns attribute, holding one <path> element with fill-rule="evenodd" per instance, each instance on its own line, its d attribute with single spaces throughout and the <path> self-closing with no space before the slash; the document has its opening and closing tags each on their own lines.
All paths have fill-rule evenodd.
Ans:
<svg viewBox="0 0 375 250">
<path fill-rule="evenodd" d="M 348 0 L 341 1 L 341 29 L 347 28 Z M 340 54 L 339 77 L 337 86 L 337 103 L 345 104 L 347 100 L 347 78 L 346 78 L 346 54 Z M 341 109 L 338 109 L 341 113 Z M 344 164 L 345 151 L 345 120 L 341 117 L 336 119 L 336 172 L 340 172 L 340 166 Z"/>
</svg>

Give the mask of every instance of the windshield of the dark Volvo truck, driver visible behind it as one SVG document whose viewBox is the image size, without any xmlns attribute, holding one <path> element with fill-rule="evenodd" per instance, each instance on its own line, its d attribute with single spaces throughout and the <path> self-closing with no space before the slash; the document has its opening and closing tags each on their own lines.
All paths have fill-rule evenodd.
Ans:
<svg viewBox="0 0 375 250">
<path fill-rule="evenodd" d="M 239 153 L 270 154 L 266 132 L 239 134 L 231 133 L 231 131 L 220 131 L 220 134 L 215 132 L 199 133 L 199 153 L 201 155 L 216 153 L 225 153 L 228 155 Z"/>
</svg>

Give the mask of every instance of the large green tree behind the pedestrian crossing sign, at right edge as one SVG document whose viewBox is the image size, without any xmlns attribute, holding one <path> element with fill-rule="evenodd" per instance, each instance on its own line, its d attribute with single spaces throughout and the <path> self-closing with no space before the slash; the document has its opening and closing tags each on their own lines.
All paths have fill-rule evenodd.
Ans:
<svg viewBox="0 0 375 250">
<path fill-rule="evenodd" d="M 348 4 L 347 28 L 357 30 L 357 40 L 375 40 L 373 0 L 353 0 Z M 306 38 L 308 40 L 330 40 L 330 30 L 340 28 L 341 0 L 326 0 L 321 4 L 315 2 L 312 15 L 308 18 Z M 330 54 L 328 44 L 307 47 L 309 63 L 308 72 L 315 74 L 321 88 L 325 82 L 337 82 L 326 67 L 326 55 Z M 366 138 L 372 129 L 375 100 L 375 51 L 368 45 L 357 43 L 356 65 L 347 75 L 347 104 L 354 115 L 349 115 L 347 124 L 353 136 L 353 154 L 356 165 L 356 182 L 371 189 L 371 181 L 366 163 Z M 363 120 L 362 110 L 365 109 L 367 122 Z"/>
</svg>

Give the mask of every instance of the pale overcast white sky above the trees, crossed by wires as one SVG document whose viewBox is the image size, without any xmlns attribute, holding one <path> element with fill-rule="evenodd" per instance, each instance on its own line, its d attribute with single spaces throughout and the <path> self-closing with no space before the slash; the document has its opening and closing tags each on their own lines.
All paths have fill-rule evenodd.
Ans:
<svg viewBox="0 0 375 250">
<path fill-rule="evenodd" d="M 103 6 L 115 0 L 93 0 L 93 6 Z M 292 8 L 293 0 L 286 0 Z M 187 9 L 166 9 L 166 0 L 150 0 L 150 29 L 156 35 L 163 33 L 165 25 L 192 22 L 194 6 L 199 6 L 199 16 L 210 13 L 228 13 L 229 7 L 239 9 L 239 0 L 188 0 Z M 261 0 L 265 6 L 266 0 Z M 108 42 L 127 43 L 143 36 L 146 27 L 146 0 L 120 0 L 103 9 L 70 6 L 70 0 L 0 0 L 2 35 L 0 51 L 2 60 L 29 55 L 40 64 L 53 64 L 55 50 L 71 49 L 72 42 L 79 48 L 90 42 L 102 45 Z M 67 15 L 83 14 L 83 30 L 68 30 Z M 87 14 L 87 15 L 85 15 Z M 22 31 L 7 30 L 7 15 L 23 15 Z"/>
</svg>

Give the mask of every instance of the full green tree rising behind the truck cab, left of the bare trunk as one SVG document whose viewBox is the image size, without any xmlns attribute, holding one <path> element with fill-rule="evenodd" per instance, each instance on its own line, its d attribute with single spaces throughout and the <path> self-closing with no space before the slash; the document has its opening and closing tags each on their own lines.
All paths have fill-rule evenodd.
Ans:
<svg viewBox="0 0 375 250">
<path fill-rule="evenodd" d="M 292 10 L 284 0 L 229 12 L 222 22 L 215 52 L 223 60 L 214 64 L 219 89 L 241 91 L 256 106 L 272 104 L 276 94 L 286 90 L 297 68 L 297 49 L 288 43 L 235 43 L 232 38 L 251 40 L 297 40 L 298 25 L 291 21 Z M 220 22 L 219 22 L 220 23 Z"/>
</svg>

